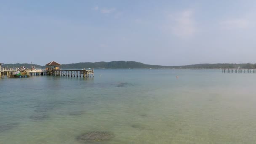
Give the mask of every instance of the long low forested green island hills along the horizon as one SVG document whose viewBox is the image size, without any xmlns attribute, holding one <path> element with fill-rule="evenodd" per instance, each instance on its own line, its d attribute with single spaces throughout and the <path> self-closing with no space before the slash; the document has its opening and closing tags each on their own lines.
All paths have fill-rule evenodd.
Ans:
<svg viewBox="0 0 256 144">
<path fill-rule="evenodd" d="M 44 69 L 45 66 L 38 64 L 3 64 L 3 67 L 22 67 L 30 68 L 35 66 L 37 69 Z M 110 61 L 110 62 L 80 62 L 75 64 L 62 64 L 62 69 L 83 69 L 83 68 L 95 68 L 95 69 L 256 69 L 256 64 L 192 64 L 184 66 L 161 66 L 143 64 L 136 61 Z"/>
</svg>

